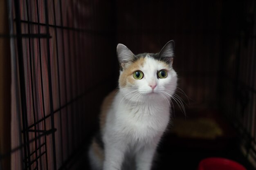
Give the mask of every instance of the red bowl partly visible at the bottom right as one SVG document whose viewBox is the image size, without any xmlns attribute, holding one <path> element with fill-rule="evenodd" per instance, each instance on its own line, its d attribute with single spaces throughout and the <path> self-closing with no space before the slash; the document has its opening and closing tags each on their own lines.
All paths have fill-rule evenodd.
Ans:
<svg viewBox="0 0 256 170">
<path fill-rule="evenodd" d="M 200 161 L 198 170 L 246 170 L 246 168 L 236 161 L 213 157 Z"/>
</svg>

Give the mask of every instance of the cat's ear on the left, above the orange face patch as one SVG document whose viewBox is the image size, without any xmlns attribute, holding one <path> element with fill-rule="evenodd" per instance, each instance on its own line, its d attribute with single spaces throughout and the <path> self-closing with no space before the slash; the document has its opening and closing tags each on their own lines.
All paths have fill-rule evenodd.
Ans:
<svg viewBox="0 0 256 170">
<path fill-rule="evenodd" d="M 131 62 L 135 55 L 124 44 L 117 44 L 117 58 L 120 69 L 123 70 L 125 64 Z"/>
</svg>

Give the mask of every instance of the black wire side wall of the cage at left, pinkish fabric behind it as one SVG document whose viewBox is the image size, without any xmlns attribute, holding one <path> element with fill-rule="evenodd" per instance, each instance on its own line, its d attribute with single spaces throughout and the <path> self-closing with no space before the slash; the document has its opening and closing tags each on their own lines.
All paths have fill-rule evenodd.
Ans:
<svg viewBox="0 0 256 170">
<path fill-rule="evenodd" d="M 115 87 L 111 4 L 10 0 L 9 8 L 17 74 L 11 169 L 73 169 L 96 127 L 102 96 Z"/>
</svg>

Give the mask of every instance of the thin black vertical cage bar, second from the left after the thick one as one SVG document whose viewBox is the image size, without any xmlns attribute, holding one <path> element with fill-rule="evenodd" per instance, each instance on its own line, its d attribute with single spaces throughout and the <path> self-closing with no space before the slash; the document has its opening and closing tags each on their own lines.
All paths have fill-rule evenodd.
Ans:
<svg viewBox="0 0 256 170">
<path fill-rule="evenodd" d="M 28 0 L 26 0 L 26 7 L 27 7 L 27 28 L 28 28 L 28 34 L 30 35 L 30 19 L 29 19 L 29 4 L 28 4 Z M 36 123 L 36 111 L 35 111 L 35 99 L 34 99 L 34 83 L 33 83 L 33 71 L 32 71 L 32 57 L 31 57 L 31 38 L 29 37 L 29 66 L 30 66 L 30 81 L 31 81 L 31 95 L 32 95 L 32 109 L 33 109 L 33 118 L 34 118 L 34 123 Z M 27 129 L 28 130 L 28 129 Z M 34 126 L 34 130 L 36 130 L 36 124 Z M 36 132 L 34 132 L 35 135 L 35 149 L 37 149 L 37 135 Z M 29 157 L 32 156 L 29 154 Z M 36 164 L 38 165 L 38 155 L 37 155 L 37 151 L 35 152 L 36 154 Z"/>
</svg>

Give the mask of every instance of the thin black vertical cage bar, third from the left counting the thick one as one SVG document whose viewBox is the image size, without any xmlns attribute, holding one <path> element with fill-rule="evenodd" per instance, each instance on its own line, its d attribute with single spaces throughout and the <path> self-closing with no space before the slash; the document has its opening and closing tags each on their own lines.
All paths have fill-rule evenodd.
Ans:
<svg viewBox="0 0 256 170">
<path fill-rule="evenodd" d="M 37 11 L 37 22 L 38 22 L 38 34 L 40 34 L 40 17 L 39 17 L 39 7 L 38 0 L 36 0 L 36 11 Z M 44 89 L 43 89 L 43 72 L 42 72 L 42 56 L 41 56 L 41 41 L 40 37 L 38 37 L 38 48 L 39 48 L 39 64 L 40 64 L 40 83 L 41 83 L 41 94 L 42 94 L 42 104 L 43 104 L 43 117 L 44 117 L 44 130 L 46 131 L 46 120 L 45 120 L 45 97 L 44 97 Z M 48 170 L 48 156 L 47 156 L 47 142 L 45 135 L 45 159 L 46 159 L 46 169 Z"/>
</svg>

